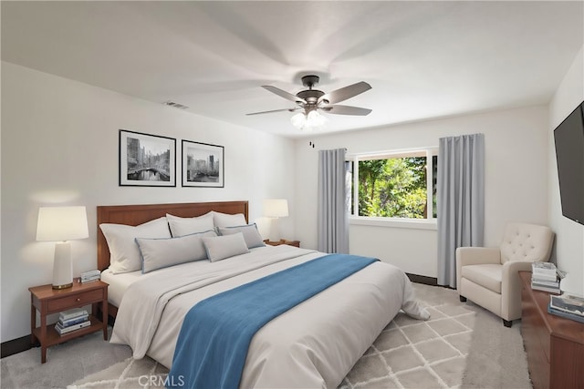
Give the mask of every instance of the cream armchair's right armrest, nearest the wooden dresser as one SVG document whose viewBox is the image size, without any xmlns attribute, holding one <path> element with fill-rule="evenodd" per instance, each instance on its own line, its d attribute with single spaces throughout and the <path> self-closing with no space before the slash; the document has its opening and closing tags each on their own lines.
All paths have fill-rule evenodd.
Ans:
<svg viewBox="0 0 584 389">
<path fill-rule="evenodd" d="M 519 271 L 531 271 L 532 261 L 506 261 L 501 275 L 501 316 L 505 320 L 521 317 L 521 279 Z"/>
</svg>

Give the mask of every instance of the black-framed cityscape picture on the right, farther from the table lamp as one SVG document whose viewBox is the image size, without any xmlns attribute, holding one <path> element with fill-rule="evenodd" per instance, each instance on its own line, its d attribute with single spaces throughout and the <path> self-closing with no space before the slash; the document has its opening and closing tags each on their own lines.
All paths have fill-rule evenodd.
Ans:
<svg viewBox="0 0 584 389">
<path fill-rule="evenodd" d="M 183 140 L 183 187 L 224 188 L 224 147 Z"/>
</svg>

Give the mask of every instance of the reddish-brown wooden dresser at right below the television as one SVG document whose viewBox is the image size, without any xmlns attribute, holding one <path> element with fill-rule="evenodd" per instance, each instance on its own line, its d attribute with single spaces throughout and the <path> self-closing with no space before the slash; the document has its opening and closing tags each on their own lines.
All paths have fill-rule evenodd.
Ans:
<svg viewBox="0 0 584 389">
<path fill-rule="evenodd" d="M 531 271 L 521 278 L 521 335 L 533 387 L 584 387 L 584 323 L 547 313 L 549 293 L 531 289 Z"/>
</svg>

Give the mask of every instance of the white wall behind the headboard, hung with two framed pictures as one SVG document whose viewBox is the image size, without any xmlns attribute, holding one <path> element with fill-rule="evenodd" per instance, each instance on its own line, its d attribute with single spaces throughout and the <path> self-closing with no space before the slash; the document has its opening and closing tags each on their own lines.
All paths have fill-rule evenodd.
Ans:
<svg viewBox="0 0 584 389">
<path fill-rule="evenodd" d="M 172 107 L 2 63 L 2 342 L 30 333 L 28 287 L 50 283 L 54 244 L 36 242 L 39 206 L 85 205 L 89 239 L 72 242 L 74 275 L 95 269 L 96 206 L 287 198 L 294 142 Z M 223 189 L 118 186 L 119 129 L 224 146 Z M 292 236 L 292 218 L 282 220 Z"/>
</svg>

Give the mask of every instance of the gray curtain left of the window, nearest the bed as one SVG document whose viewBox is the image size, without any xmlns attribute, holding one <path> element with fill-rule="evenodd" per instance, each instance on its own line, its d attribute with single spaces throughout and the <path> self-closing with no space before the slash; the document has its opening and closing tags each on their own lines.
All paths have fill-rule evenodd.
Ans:
<svg viewBox="0 0 584 389">
<path fill-rule="evenodd" d="M 318 251 L 349 253 L 345 149 L 318 151 Z"/>
</svg>

